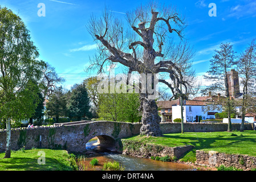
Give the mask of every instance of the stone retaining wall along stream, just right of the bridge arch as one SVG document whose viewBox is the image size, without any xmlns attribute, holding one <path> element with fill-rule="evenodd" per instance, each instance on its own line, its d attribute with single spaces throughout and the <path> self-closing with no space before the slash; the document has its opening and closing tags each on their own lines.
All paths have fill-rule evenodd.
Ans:
<svg viewBox="0 0 256 182">
<path fill-rule="evenodd" d="M 186 151 L 193 146 L 166 147 L 155 144 L 148 144 L 141 141 L 121 139 L 123 144 L 123 154 L 132 155 L 139 158 L 150 158 L 151 156 L 176 156 L 180 158 Z"/>
</svg>

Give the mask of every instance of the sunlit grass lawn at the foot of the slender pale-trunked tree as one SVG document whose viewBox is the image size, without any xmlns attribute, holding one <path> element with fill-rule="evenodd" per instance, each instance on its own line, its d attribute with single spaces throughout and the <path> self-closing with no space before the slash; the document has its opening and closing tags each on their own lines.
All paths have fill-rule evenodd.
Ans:
<svg viewBox="0 0 256 182">
<path fill-rule="evenodd" d="M 46 164 L 38 164 L 39 151 L 45 152 Z M 4 159 L 0 153 L 1 171 L 67 171 L 72 170 L 66 150 L 32 149 L 11 151 L 11 158 Z"/>
</svg>

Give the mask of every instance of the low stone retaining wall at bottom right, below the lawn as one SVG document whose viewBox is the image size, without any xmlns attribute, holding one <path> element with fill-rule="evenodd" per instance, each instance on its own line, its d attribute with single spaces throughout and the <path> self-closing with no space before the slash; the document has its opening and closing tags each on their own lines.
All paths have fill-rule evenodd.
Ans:
<svg viewBox="0 0 256 182">
<path fill-rule="evenodd" d="M 251 170 L 256 168 L 256 157 L 248 155 L 235 155 L 225 154 L 216 151 L 196 151 L 196 164 L 209 166 L 209 167 L 220 167 L 224 165 L 226 167 L 236 167 L 239 169 Z"/>
</svg>

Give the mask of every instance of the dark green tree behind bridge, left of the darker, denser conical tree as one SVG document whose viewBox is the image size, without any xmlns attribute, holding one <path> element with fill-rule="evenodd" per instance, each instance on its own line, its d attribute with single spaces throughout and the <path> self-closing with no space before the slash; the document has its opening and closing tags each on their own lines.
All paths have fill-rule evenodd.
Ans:
<svg viewBox="0 0 256 182">
<path fill-rule="evenodd" d="M 55 117 L 57 123 L 59 117 L 67 115 L 67 99 L 62 86 L 55 90 L 46 103 L 46 114 Z"/>
</svg>

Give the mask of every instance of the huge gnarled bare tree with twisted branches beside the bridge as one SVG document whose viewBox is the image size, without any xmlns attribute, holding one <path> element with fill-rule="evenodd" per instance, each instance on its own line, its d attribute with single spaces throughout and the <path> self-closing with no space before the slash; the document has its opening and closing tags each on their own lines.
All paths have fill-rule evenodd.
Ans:
<svg viewBox="0 0 256 182">
<path fill-rule="evenodd" d="M 91 16 L 87 29 L 98 43 L 98 49 L 91 59 L 90 68 L 104 72 L 105 67 L 120 63 L 128 68 L 128 73 L 166 73 L 168 78 L 162 76 L 165 79 L 158 81 L 170 88 L 173 97 L 180 93 L 180 84 L 188 92 L 189 81 L 193 79 L 193 72 L 189 69 L 194 52 L 187 42 L 179 43 L 186 27 L 185 18 L 175 8 L 160 6 L 155 2 L 128 11 L 125 18 L 127 29 L 108 9 L 101 18 Z M 178 43 L 170 35 L 176 35 Z M 147 84 L 154 85 L 153 78 Z M 152 93 L 148 90 L 140 93 L 143 110 L 140 134 L 159 136 L 161 118 L 157 113 L 156 101 L 149 99 L 150 96 Z"/>
</svg>

